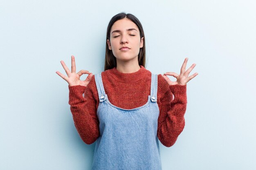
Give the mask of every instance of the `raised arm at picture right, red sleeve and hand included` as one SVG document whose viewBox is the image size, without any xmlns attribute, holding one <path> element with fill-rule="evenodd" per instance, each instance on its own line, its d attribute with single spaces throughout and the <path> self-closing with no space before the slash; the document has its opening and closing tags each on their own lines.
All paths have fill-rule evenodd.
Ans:
<svg viewBox="0 0 256 170">
<path fill-rule="evenodd" d="M 180 75 L 174 72 L 167 72 L 163 78 L 169 85 L 164 97 L 160 101 L 159 118 L 157 127 L 158 139 L 164 146 L 171 147 L 175 144 L 177 137 L 180 135 L 185 126 L 184 114 L 186 112 L 186 84 L 193 79 L 198 73 L 189 76 L 189 73 L 196 64 L 186 71 L 186 63 L 188 58 L 185 58 Z M 177 79 L 172 82 L 166 75 L 171 75 Z M 189 77 L 188 77 L 189 76 Z M 174 99 L 172 94 L 174 95 Z"/>
</svg>

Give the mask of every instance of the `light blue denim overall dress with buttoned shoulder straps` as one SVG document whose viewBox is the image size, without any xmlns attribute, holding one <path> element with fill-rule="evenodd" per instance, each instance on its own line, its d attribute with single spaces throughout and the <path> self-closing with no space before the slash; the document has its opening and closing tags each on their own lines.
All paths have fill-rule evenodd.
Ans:
<svg viewBox="0 0 256 170">
<path fill-rule="evenodd" d="M 157 138 L 157 75 L 151 73 L 148 102 L 133 109 L 110 103 L 101 73 L 95 74 L 95 82 L 99 94 L 100 136 L 95 145 L 92 170 L 162 170 Z"/>
</svg>

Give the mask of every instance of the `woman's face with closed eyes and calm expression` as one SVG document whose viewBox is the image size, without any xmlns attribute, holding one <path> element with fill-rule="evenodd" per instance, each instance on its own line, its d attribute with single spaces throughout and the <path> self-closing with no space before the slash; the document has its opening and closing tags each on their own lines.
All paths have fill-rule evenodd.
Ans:
<svg viewBox="0 0 256 170">
<path fill-rule="evenodd" d="M 111 27 L 108 48 L 117 60 L 128 61 L 138 57 L 139 49 L 143 47 L 143 37 L 140 39 L 137 25 L 127 18 L 117 20 Z M 128 49 L 121 49 L 127 46 Z"/>
</svg>

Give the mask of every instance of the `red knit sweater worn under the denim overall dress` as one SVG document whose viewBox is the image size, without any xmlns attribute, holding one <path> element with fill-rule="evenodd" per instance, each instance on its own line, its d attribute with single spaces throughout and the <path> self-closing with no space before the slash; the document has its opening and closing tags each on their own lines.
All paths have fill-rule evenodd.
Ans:
<svg viewBox="0 0 256 170">
<path fill-rule="evenodd" d="M 101 73 L 106 94 L 113 105 L 132 109 L 143 106 L 150 95 L 151 72 L 144 66 L 134 73 L 121 73 L 116 67 Z M 157 75 L 157 104 L 159 117 L 157 137 L 166 147 L 173 146 L 185 126 L 186 85 L 168 85 L 161 74 Z M 74 125 L 81 139 L 92 144 L 99 137 L 97 108 L 99 96 L 95 77 L 88 86 L 68 86 L 69 104 Z M 84 96 L 83 96 L 84 94 Z M 173 97 L 174 95 L 174 97 Z"/>
</svg>

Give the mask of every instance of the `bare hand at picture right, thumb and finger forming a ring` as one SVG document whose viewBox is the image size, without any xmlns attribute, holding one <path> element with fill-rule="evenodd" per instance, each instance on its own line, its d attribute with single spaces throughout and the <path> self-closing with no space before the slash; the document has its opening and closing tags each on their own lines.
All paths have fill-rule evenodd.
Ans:
<svg viewBox="0 0 256 170">
<path fill-rule="evenodd" d="M 195 67 L 195 63 L 192 64 L 192 66 L 187 70 L 186 70 L 186 63 L 189 60 L 189 58 L 185 58 L 182 67 L 180 69 L 180 75 L 178 75 L 177 73 L 174 72 L 166 72 L 164 73 L 163 77 L 165 79 L 165 81 L 169 84 L 169 85 L 175 85 L 175 84 L 179 84 L 179 85 L 186 85 L 187 82 L 189 82 L 191 79 L 193 79 L 196 75 L 198 75 L 198 73 L 194 73 L 193 75 L 189 76 L 189 73 L 192 71 L 192 69 Z M 167 75 L 172 75 L 173 77 L 175 77 L 177 79 L 176 82 L 172 82 Z M 189 76 L 189 77 L 188 77 Z"/>
</svg>

